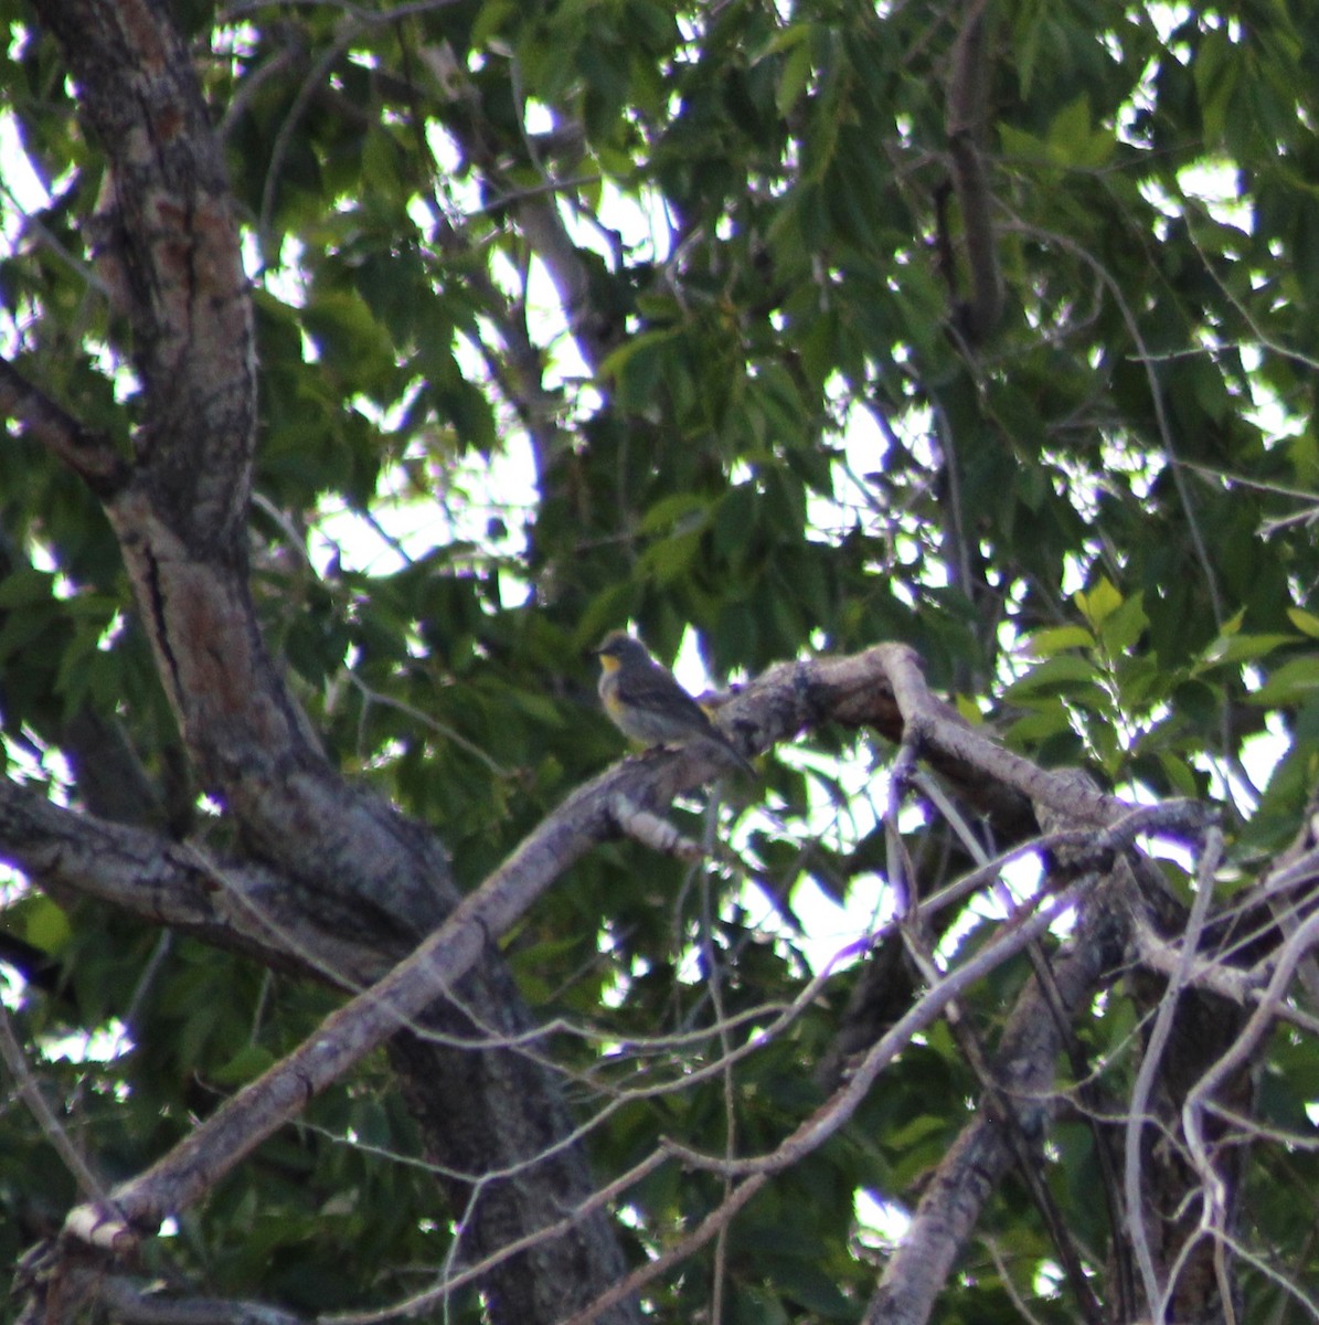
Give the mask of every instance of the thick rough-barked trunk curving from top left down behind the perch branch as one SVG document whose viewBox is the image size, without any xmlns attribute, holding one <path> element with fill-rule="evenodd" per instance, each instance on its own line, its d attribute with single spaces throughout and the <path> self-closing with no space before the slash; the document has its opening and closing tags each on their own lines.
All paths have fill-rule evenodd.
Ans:
<svg viewBox="0 0 1319 1325">
<path fill-rule="evenodd" d="M 379 969 L 433 930 L 457 890 L 429 829 L 328 766 L 261 636 L 245 527 L 256 420 L 252 307 L 197 78 L 166 8 L 152 0 L 48 0 L 40 13 L 64 48 L 110 166 L 99 258 L 132 327 L 143 412 L 136 465 L 106 510 L 160 678 L 199 780 L 232 814 L 241 849 L 273 867 L 306 914 L 338 914 L 347 934 L 366 928 Z M 498 955 L 481 955 L 460 1006 L 426 1016 L 449 1044 L 469 1027 L 462 1006 L 486 1026 L 527 1020 Z M 348 978 L 360 970 L 359 961 Z M 413 1041 L 404 1039 L 395 1047 L 441 1174 L 498 1170 L 510 1155 L 520 1161 L 571 1136 L 546 1067 L 444 1043 L 409 1052 Z M 462 1208 L 465 1185 L 441 1181 Z M 483 1200 L 471 1244 L 482 1255 L 544 1227 L 546 1208 L 591 1190 L 580 1150 L 565 1151 L 538 1181 L 503 1185 Z M 497 1320 L 534 1321 L 546 1317 L 546 1298 L 589 1295 L 614 1281 L 618 1265 L 617 1240 L 596 1219 L 534 1260 L 501 1267 L 483 1289 Z M 630 1320 L 632 1309 L 617 1317 Z"/>
</svg>

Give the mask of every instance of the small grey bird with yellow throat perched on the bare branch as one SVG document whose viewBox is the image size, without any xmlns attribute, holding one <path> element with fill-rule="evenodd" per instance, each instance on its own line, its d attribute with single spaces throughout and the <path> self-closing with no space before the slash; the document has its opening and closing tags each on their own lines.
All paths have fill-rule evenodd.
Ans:
<svg viewBox="0 0 1319 1325">
<path fill-rule="evenodd" d="M 600 674 L 600 700 L 624 735 L 648 745 L 710 741 L 736 759 L 752 778 L 757 776 L 750 761 L 678 685 L 673 673 L 656 662 L 641 640 L 625 631 L 611 631 L 595 652 L 604 669 Z"/>
</svg>

